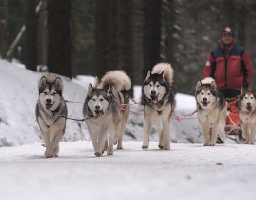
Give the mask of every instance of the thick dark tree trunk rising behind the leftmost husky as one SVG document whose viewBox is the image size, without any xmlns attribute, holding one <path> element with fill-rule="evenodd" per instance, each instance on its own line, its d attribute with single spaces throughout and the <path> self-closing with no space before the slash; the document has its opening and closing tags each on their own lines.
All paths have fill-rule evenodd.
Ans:
<svg viewBox="0 0 256 200">
<path fill-rule="evenodd" d="M 72 78 L 70 0 L 48 0 L 49 71 Z"/>
</svg>

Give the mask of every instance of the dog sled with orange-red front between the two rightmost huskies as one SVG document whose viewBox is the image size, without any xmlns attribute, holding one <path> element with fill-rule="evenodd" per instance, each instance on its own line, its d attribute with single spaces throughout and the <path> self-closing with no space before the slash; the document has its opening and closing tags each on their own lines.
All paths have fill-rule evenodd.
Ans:
<svg viewBox="0 0 256 200">
<path fill-rule="evenodd" d="M 237 143 L 243 142 L 242 130 L 240 126 L 239 114 L 238 114 L 238 99 L 241 94 L 240 88 L 223 88 L 220 89 L 227 102 L 227 116 L 225 134 L 227 138 L 230 138 Z M 219 138 L 217 143 L 223 143 Z"/>
</svg>

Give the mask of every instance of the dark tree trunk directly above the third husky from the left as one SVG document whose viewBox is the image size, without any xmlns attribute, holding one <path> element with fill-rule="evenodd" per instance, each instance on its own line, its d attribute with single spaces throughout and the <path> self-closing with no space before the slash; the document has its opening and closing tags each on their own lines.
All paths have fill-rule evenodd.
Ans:
<svg viewBox="0 0 256 200">
<path fill-rule="evenodd" d="M 160 62 L 161 0 L 144 0 L 143 76 Z"/>
</svg>

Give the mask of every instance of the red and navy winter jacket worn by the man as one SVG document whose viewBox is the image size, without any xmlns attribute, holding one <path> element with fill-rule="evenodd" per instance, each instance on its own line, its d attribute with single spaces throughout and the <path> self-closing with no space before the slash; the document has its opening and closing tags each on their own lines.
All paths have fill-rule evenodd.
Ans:
<svg viewBox="0 0 256 200">
<path fill-rule="evenodd" d="M 223 42 L 208 56 L 203 78 L 214 78 L 217 88 L 247 88 L 251 84 L 253 71 L 249 54 L 242 46 Z"/>
</svg>

